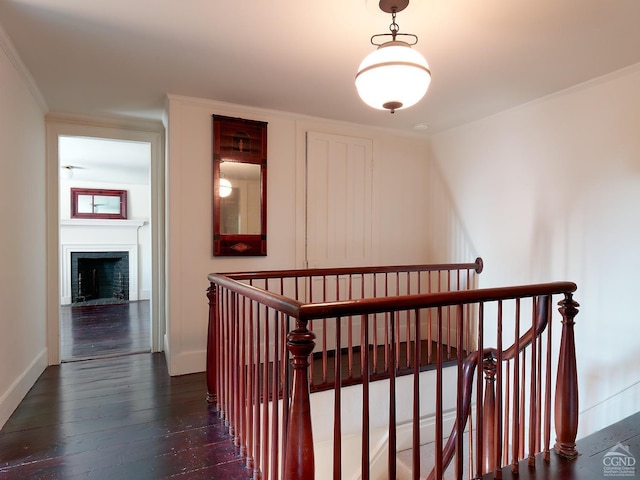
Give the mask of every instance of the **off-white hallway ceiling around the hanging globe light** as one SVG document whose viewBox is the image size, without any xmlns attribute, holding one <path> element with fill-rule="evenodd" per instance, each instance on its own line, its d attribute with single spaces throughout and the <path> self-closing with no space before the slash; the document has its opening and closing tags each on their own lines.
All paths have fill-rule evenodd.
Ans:
<svg viewBox="0 0 640 480">
<path fill-rule="evenodd" d="M 390 113 L 354 76 L 377 0 L 0 0 L 51 111 L 160 119 L 166 93 L 438 132 L 640 63 L 639 0 L 413 0 L 400 31 L 433 80 Z"/>
</svg>

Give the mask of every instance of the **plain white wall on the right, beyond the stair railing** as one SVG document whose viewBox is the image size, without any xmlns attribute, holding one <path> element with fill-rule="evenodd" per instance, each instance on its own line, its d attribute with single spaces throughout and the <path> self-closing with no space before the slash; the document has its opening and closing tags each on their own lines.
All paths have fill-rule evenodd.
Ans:
<svg viewBox="0 0 640 480">
<path fill-rule="evenodd" d="M 578 285 L 580 436 L 640 406 L 638 112 L 635 66 L 432 137 L 482 285 Z"/>
</svg>

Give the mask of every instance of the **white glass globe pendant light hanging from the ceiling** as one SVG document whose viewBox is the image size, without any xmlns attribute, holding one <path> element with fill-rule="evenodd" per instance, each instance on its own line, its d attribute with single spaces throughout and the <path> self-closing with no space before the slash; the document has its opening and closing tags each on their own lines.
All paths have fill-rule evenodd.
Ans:
<svg viewBox="0 0 640 480">
<path fill-rule="evenodd" d="M 396 13 L 407 5 L 409 0 L 380 0 L 380 10 L 391 14 L 391 33 L 371 37 L 371 44 L 378 48 L 365 57 L 356 74 L 356 89 L 362 101 L 391 113 L 418 103 L 431 82 L 427 61 L 411 48 L 418 43 L 418 37 L 400 33 L 396 23 Z M 382 41 L 384 37 L 391 37 L 391 40 Z"/>
</svg>

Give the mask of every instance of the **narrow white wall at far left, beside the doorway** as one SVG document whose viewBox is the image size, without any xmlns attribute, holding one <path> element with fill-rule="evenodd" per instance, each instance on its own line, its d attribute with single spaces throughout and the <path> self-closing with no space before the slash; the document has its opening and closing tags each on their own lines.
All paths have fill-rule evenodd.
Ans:
<svg viewBox="0 0 640 480">
<path fill-rule="evenodd" d="M 45 109 L 0 27 L 0 427 L 47 365 Z"/>
</svg>

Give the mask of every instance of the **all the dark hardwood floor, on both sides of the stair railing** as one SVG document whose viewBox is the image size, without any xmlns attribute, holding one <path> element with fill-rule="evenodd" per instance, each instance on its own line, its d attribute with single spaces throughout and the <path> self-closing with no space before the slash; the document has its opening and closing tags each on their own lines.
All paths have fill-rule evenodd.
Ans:
<svg viewBox="0 0 640 480">
<path fill-rule="evenodd" d="M 98 311 L 109 317 L 124 308 L 70 308 L 81 313 L 70 325 L 93 325 L 75 335 L 85 341 L 70 347 L 70 358 L 98 359 L 45 370 L 0 431 L 0 480 L 251 478 L 227 428 L 205 400 L 204 373 L 169 377 L 163 354 L 131 355 L 138 348 L 132 348 L 134 341 L 115 346 L 115 337 L 128 338 L 143 328 L 135 322 L 144 318 L 144 305 L 132 303 L 127 316 L 102 324 L 97 315 L 85 316 L 90 313 L 85 309 L 107 307 Z M 137 320 L 127 327 L 125 317 Z M 115 335 L 118 328 L 128 334 Z M 503 478 L 602 479 L 607 453 L 628 451 L 627 458 L 640 459 L 640 413 L 582 439 L 578 450 L 581 455 L 573 462 L 553 454 L 550 463 L 539 460 L 535 471 L 525 464 L 519 477 L 505 469 Z M 633 476 L 640 475 L 637 468 Z"/>
</svg>

